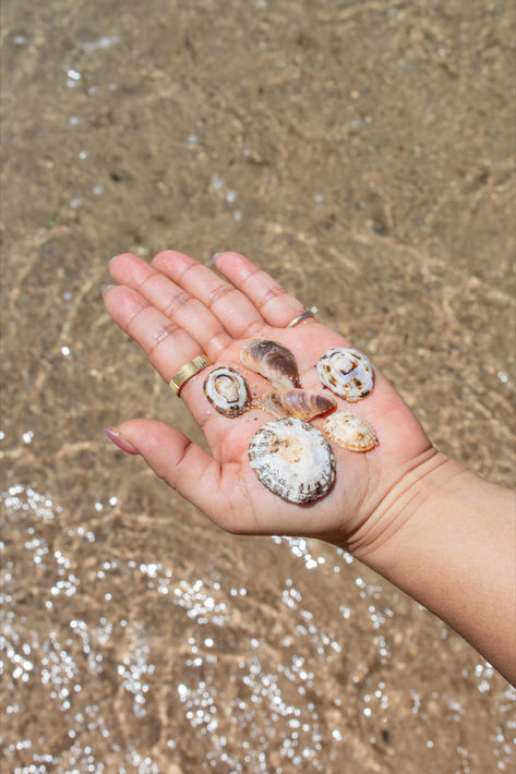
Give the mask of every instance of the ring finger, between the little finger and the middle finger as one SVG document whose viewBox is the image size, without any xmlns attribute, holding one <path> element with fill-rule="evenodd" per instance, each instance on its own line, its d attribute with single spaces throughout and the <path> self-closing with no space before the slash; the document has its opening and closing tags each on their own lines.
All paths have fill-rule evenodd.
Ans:
<svg viewBox="0 0 516 774">
<path fill-rule="evenodd" d="M 264 319 L 254 304 L 199 261 L 167 250 L 158 253 L 152 265 L 202 301 L 233 338 L 247 338 L 263 328 Z"/>
</svg>

